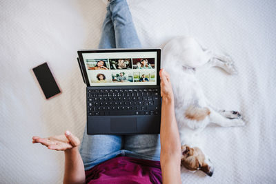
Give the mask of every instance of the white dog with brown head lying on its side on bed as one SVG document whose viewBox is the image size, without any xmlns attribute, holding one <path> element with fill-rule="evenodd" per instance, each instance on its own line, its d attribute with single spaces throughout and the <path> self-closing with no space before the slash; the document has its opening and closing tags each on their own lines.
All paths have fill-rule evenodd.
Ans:
<svg viewBox="0 0 276 184">
<path fill-rule="evenodd" d="M 161 68 L 170 74 L 175 96 L 175 116 L 181 139 L 181 165 L 190 171 L 201 170 L 212 176 L 214 167 L 201 149 L 197 135 L 209 123 L 222 127 L 243 126 L 242 115 L 234 110 L 213 107 L 201 90 L 195 73 L 216 66 L 237 74 L 233 60 L 201 47 L 192 37 L 177 37 L 162 49 Z"/>
</svg>

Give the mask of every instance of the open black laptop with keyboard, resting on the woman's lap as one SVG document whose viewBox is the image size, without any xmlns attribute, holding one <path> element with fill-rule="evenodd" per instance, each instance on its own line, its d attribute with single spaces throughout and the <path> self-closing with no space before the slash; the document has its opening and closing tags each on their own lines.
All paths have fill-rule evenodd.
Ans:
<svg viewBox="0 0 276 184">
<path fill-rule="evenodd" d="M 161 49 L 79 50 L 88 134 L 159 134 Z"/>
</svg>

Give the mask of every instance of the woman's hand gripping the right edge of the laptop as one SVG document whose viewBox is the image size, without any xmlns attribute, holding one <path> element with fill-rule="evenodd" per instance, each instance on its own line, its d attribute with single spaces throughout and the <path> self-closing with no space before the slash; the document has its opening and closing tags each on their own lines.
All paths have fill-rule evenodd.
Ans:
<svg viewBox="0 0 276 184">
<path fill-rule="evenodd" d="M 172 84 L 170 83 L 170 75 L 163 68 L 159 71 L 161 83 L 161 97 L 163 100 L 173 100 Z"/>
</svg>

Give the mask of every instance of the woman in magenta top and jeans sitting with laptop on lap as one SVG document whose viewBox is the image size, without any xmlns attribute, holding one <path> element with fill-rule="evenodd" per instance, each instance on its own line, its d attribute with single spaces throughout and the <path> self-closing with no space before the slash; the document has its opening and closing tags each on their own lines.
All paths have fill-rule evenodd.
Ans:
<svg viewBox="0 0 276 184">
<path fill-rule="evenodd" d="M 108 4 L 99 48 L 141 48 L 126 0 Z M 159 134 L 129 136 L 88 135 L 79 139 L 66 131 L 33 143 L 63 150 L 63 183 L 181 183 L 181 145 L 175 120 L 174 98 L 168 73 L 161 76 L 161 129 Z M 160 146 L 161 145 L 161 146 Z"/>
</svg>

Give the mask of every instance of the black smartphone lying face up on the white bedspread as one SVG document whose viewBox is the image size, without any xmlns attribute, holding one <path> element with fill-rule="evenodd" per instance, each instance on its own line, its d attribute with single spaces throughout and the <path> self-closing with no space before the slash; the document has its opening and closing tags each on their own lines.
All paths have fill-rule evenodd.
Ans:
<svg viewBox="0 0 276 184">
<path fill-rule="evenodd" d="M 55 81 L 55 78 L 52 75 L 47 63 L 43 63 L 35 68 L 32 68 L 32 71 L 37 77 L 37 81 L 39 81 L 39 85 L 46 99 L 50 99 L 51 97 L 61 93 L 59 85 L 57 85 L 57 82 Z"/>
</svg>

